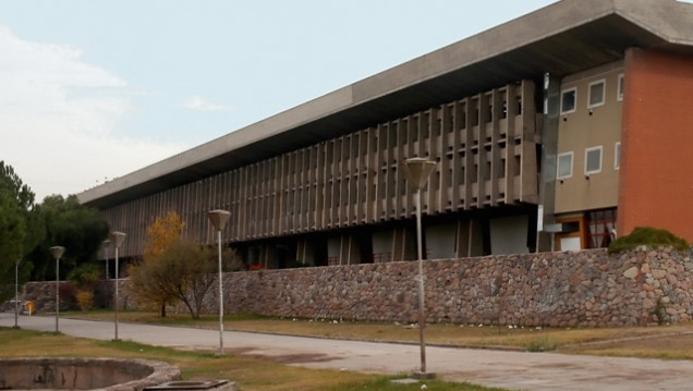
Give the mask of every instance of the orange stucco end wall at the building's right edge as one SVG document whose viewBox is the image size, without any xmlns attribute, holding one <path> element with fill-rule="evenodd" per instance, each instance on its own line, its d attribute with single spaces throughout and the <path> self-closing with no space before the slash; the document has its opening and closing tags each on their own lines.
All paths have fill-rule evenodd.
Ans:
<svg viewBox="0 0 693 391">
<path fill-rule="evenodd" d="M 618 234 L 666 229 L 693 242 L 693 57 L 630 49 Z"/>
</svg>

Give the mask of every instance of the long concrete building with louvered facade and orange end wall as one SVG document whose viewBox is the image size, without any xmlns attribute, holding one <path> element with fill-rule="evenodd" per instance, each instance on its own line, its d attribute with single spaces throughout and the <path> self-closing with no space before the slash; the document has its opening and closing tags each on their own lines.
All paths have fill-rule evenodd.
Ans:
<svg viewBox="0 0 693 391">
<path fill-rule="evenodd" d="M 693 5 L 564 0 L 85 191 L 124 257 L 167 211 L 248 265 L 606 246 L 637 225 L 693 240 Z"/>
</svg>

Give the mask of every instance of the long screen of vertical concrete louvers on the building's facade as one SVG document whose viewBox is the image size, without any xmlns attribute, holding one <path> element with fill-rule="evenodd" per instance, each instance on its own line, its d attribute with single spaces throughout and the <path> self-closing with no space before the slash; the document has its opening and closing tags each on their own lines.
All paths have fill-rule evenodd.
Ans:
<svg viewBox="0 0 693 391">
<path fill-rule="evenodd" d="M 540 132 L 535 86 L 523 81 L 178 186 L 105 210 L 143 254 L 147 225 L 169 210 L 185 236 L 212 243 L 207 211 L 227 209 L 223 236 L 243 242 L 414 216 L 399 164 L 438 162 L 424 215 L 536 204 Z"/>
</svg>

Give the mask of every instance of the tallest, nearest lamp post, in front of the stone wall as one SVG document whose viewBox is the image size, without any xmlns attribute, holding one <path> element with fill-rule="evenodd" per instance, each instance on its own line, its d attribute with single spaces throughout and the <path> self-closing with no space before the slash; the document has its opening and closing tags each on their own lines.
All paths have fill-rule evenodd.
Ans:
<svg viewBox="0 0 693 391">
<path fill-rule="evenodd" d="M 421 191 L 426 186 L 428 176 L 436 168 L 436 162 L 425 158 L 411 158 L 404 160 L 402 169 L 406 183 L 415 192 L 416 203 L 416 249 L 418 254 L 418 340 L 421 349 L 421 378 L 434 378 L 435 374 L 426 374 L 426 342 L 424 340 L 424 328 L 426 327 L 426 315 L 424 307 L 424 258 L 422 248 L 421 229 Z"/>
</svg>

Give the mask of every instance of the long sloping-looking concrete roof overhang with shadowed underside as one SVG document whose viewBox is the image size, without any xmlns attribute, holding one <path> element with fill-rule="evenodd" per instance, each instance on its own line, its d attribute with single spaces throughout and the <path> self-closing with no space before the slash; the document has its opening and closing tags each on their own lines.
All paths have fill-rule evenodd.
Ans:
<svg viewBox="0 0 693 391">
<path fill-rule="evenodd" d="M 564 0 L 78 194 L 100 209 L 546 72 L 562 76 L 628 48 L 693 54 L 693 7 Z"/>
</svg>

